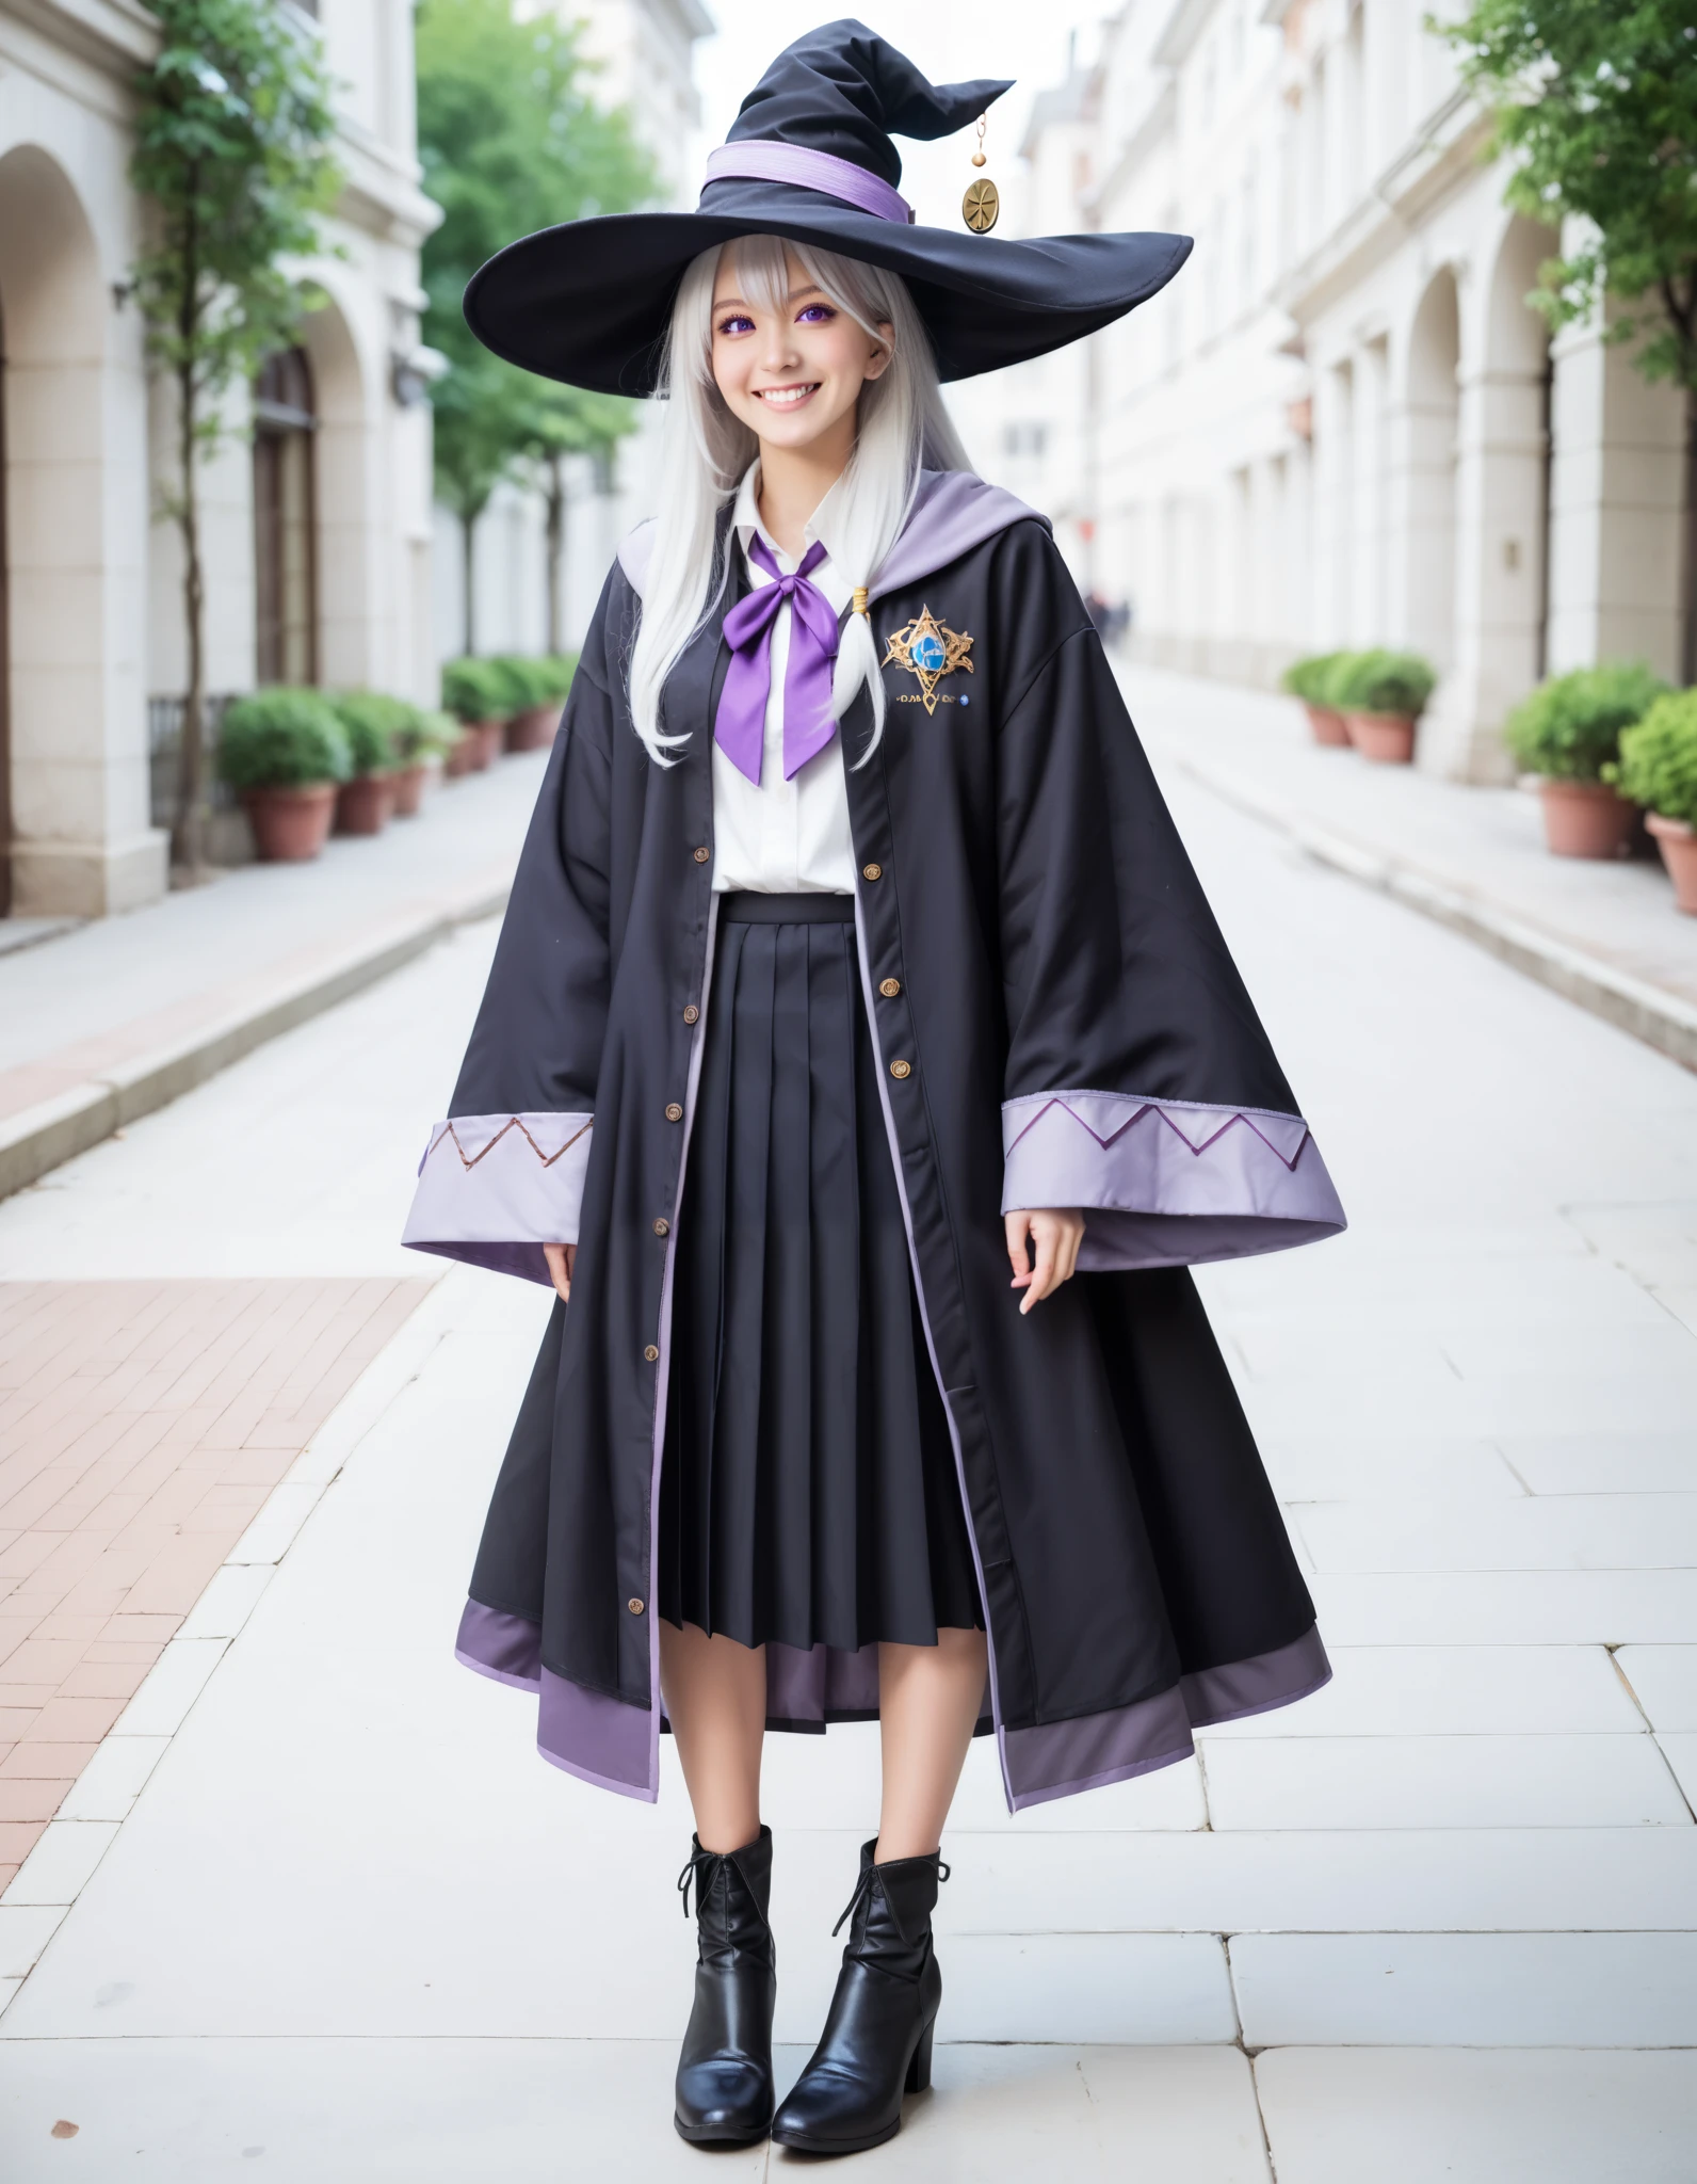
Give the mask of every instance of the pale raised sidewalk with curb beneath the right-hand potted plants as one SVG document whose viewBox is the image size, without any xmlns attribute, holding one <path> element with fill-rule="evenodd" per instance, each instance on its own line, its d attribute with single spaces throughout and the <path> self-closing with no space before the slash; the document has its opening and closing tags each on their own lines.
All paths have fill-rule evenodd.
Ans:
<svg viewBox="0 0 1697 2184">
<path fill-rule="evenodd" d="M 1697 917 L 1656 856 L 1551 856 L 1533 788 L 1315 745 L 1293 699 L 1120 664 L 1151 756 L 1697 1068 Z"/>
</svg>

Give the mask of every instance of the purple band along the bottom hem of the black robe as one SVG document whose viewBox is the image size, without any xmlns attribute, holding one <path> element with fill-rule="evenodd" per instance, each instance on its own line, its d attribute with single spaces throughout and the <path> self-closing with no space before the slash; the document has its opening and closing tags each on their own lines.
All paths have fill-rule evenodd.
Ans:
<svg viewBox="0 0 1697 2184">
<path fill-rule="evenodd" d="M 467 1601 L 454 1658 L 496 1684 L 535 1690 L 537 1752 L 596 1789 L 653 1802 L 657 1752 L 653 1712 L 627 1706 L 542 1666 L 542 1631 L 524 1616 Z M 1048 1804 L 1083 1789 L 1103 1789 L 1190 1758 L 1190 1732 L 1245 1714 L 1265 1714 L 1319 1690 L 1332 1677 L 1317 1629 L 1251 1660 L 1197 1669 L 1168 1690 L 1075 1721 L 1002 1730 L 1009 1804 Z M 797 1728 L 828 1719 L 871 1719 L 878 1712 L 878 1649 L 839 1653 L 815 1647 L 767 1649 L 767 1717 Z M 989 1706 L 981 1725 L 989 1723 Z"/>
</svg>

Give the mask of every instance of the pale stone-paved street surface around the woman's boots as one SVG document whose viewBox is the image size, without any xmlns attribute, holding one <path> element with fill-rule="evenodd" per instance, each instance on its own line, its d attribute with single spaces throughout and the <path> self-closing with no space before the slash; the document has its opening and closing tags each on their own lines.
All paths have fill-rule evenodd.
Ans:
<svg viewBox="0 0 1697 2184">
<path fill-rule="evenodd" d="M 1690 2184 L 1697 1081 L 1173 795 L 1352 1214 L 1201 1278 L 1337 1679 L 1020 1819 L 974 1749 L 935 2092 L 865 2171 Z M 0 1278 L 417 1273 L 393 1236 L 489 943 L 9 1201 Z M 430 1291 L 7 1891 L 9 2184 L 705 2175 L 668 2105 L 671 1745 L 657 1808 L 612 1800 L 450 1658 L 544 1313 Z M 773 1738 L 767 1776 L 791 2075 L 876 1745 Z"/>
</svg>

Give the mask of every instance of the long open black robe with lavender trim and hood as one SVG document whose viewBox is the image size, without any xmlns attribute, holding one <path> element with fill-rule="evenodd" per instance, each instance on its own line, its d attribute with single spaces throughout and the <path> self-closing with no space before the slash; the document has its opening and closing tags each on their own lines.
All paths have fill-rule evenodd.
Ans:
<svg viewBox="0 0 1697 2184">
<path fill-rule="evenodd" d="M 539 1693 L 546 1758 L 653 1797 L 653 1514 L 727 649 L 721 607 L 666 686 L 688 740 L 653 764 L 625 695 L 642 544 L 596 607 L 406 1241 L 531 1280 L 544 1241 L 577 1243 L 459 1651 Z M 1326 1682 L 1184 1269 L 1343 1212 L 1048 526 L 926 474 L 871 622 L 889 705 L 865 764 L 867 701 L 843 723 L 863 985 L 1018 1808 Z M 939 653 L 935 677 L 902 664 Z M 1002 1238 L 1022 1206 L 1085 1214 L 1079 1273 L 1029 1317 Z M 767 1651 L 773 1719 L 876 1710 L 876 1647 Z"/>
</svg>

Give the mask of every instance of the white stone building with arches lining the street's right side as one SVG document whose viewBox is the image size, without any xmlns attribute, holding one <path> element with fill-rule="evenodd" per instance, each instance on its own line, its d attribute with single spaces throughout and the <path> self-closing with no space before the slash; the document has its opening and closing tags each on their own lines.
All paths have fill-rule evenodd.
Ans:
<svg viewBox="0 0 1697 2184">
<path fill-rule="evenodd" d="M 1441 670 L 1422 764 L 1494 780 L 1542 673 L 1688 664 L 1686 404 L 1594 332 L 1551 345 L 1524 297 L 1557 238 L 1505 210 L 1424 15 L 1127 0 L 1040 105 L 1033 227 L 1197 251 L 1085 345 L 1085 417 L 1033 494 L 1081 579 L 1131 601 L 1140 655 L 1271 681 L 1304 651 L 1411 646 Z M 1035 408 L 1005 380 L 1005 415 Z"/>
</svg>

